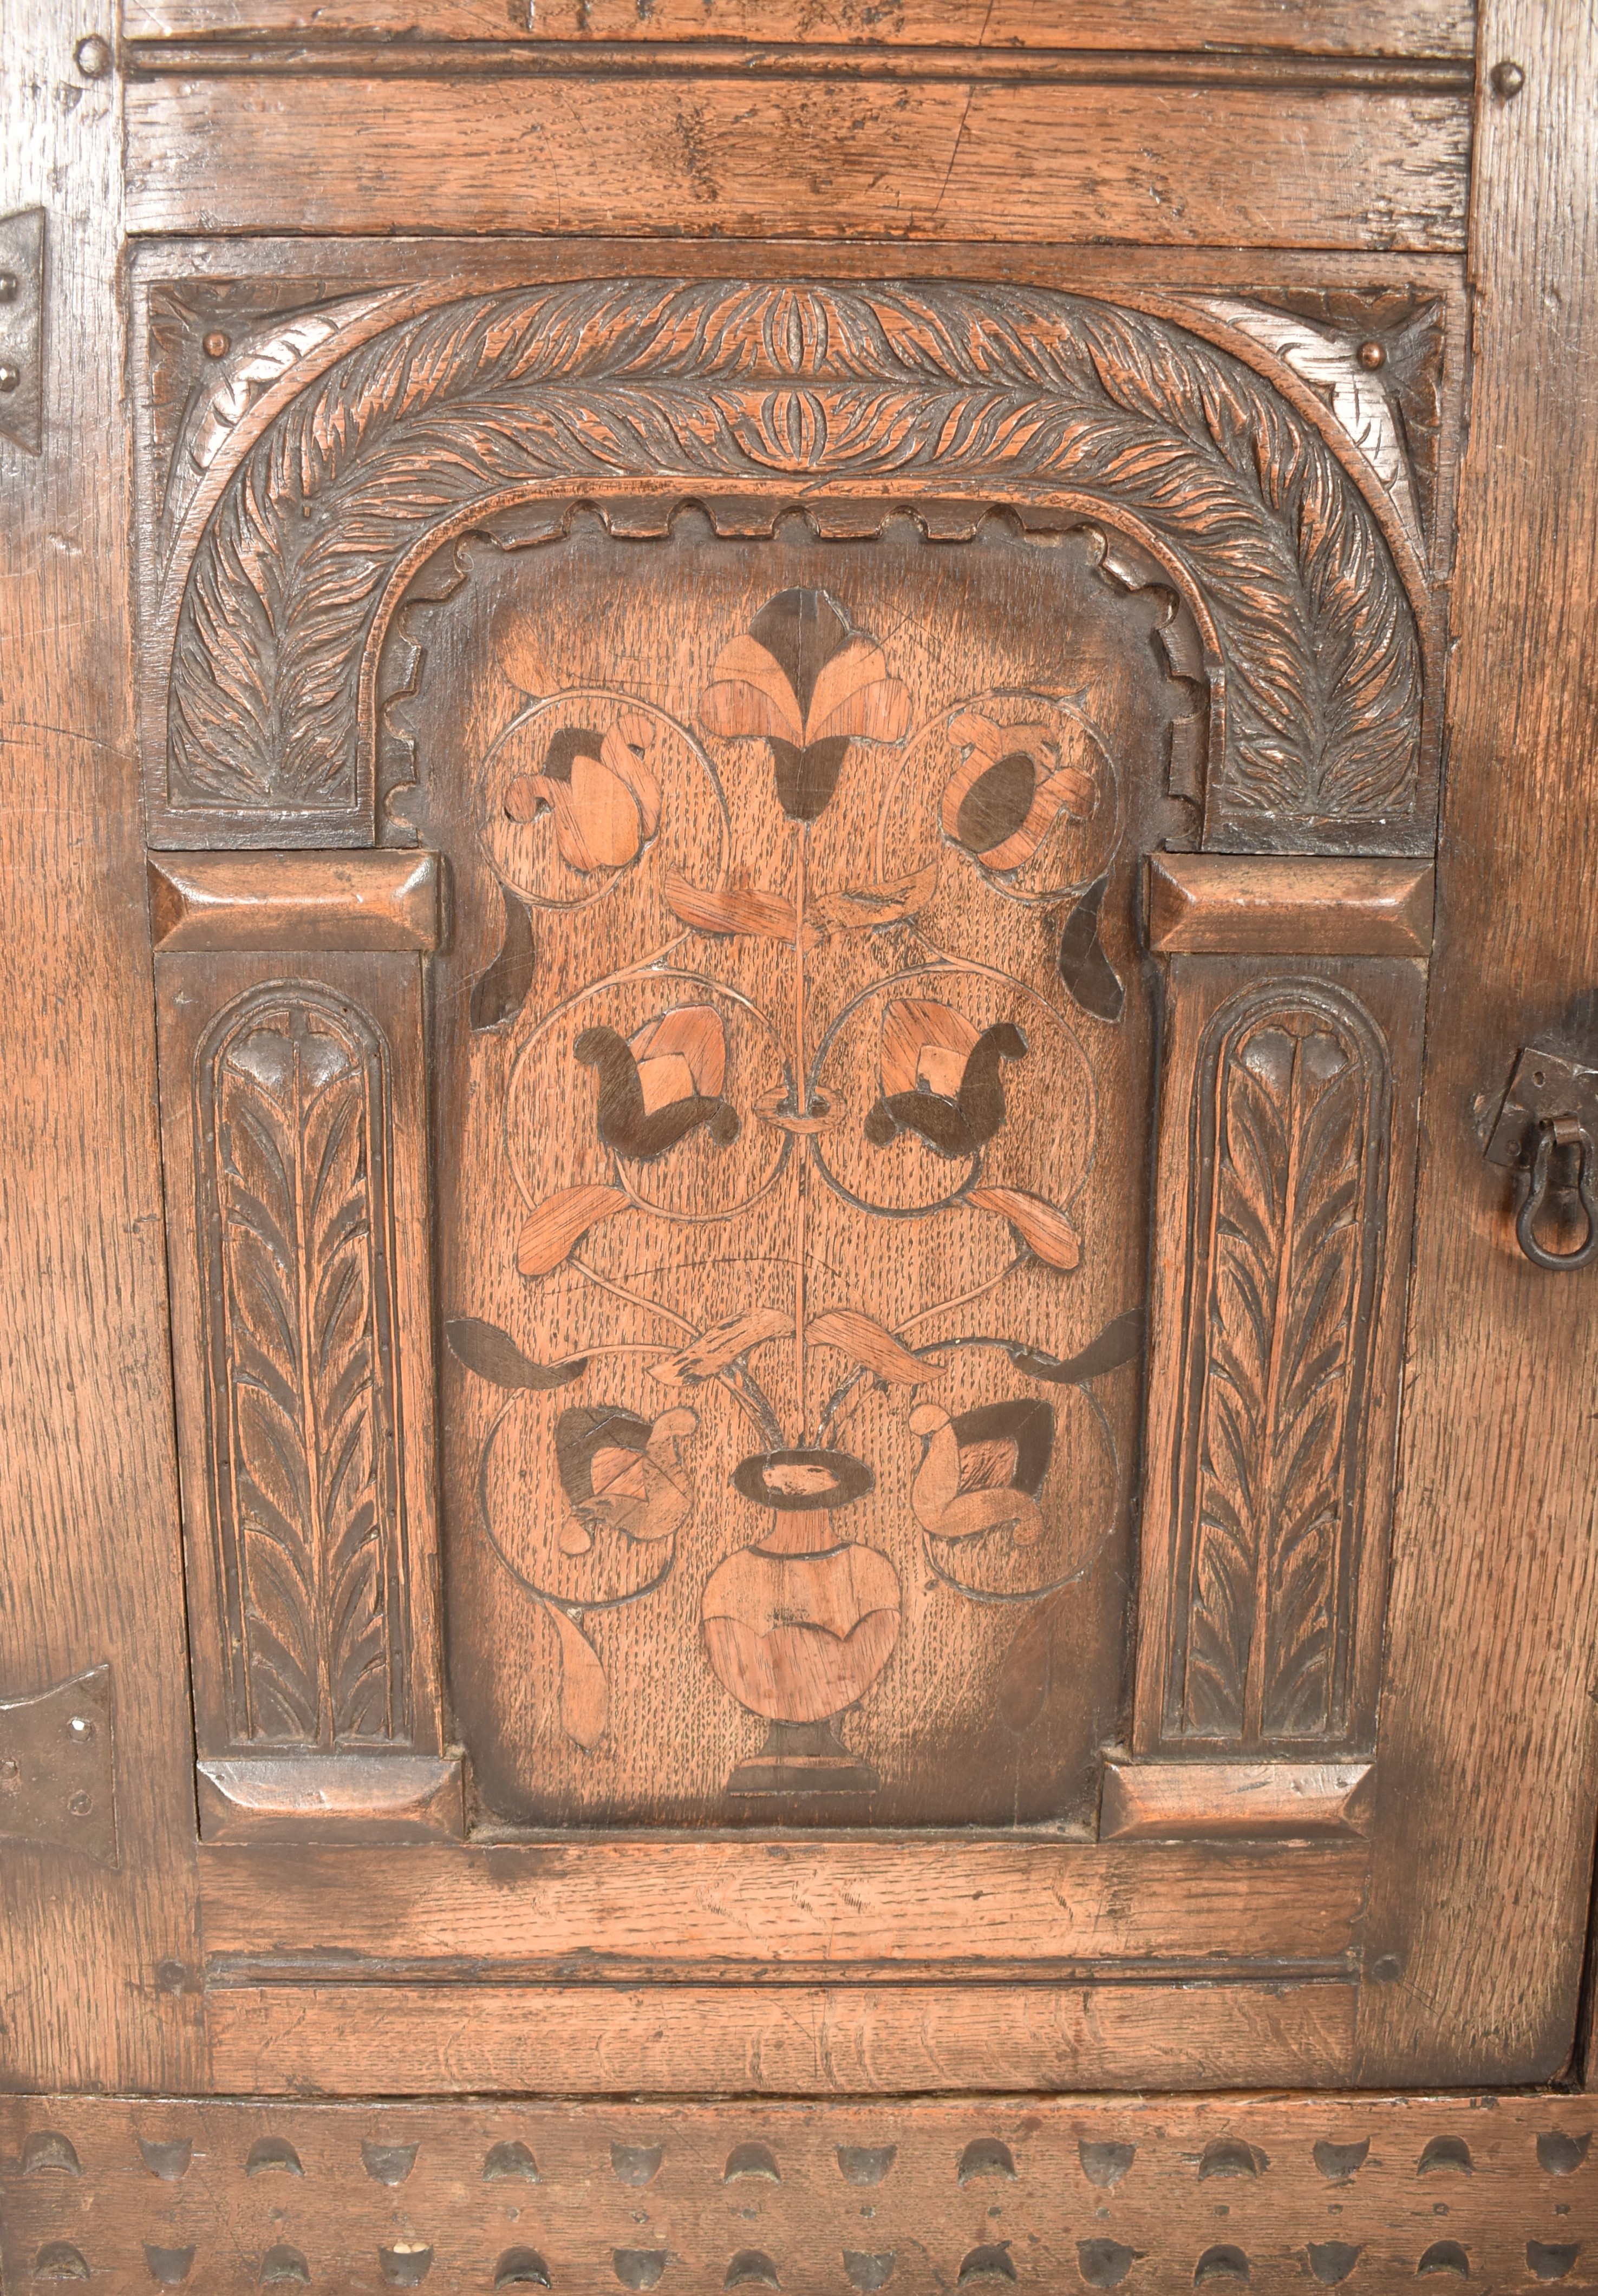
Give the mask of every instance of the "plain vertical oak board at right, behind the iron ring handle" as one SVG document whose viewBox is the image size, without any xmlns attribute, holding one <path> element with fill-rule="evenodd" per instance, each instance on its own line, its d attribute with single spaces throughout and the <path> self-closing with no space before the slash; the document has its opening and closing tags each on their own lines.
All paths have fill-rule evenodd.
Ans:
<svg viewBox="0 0 1598 2296">
<path fill-rule="evenodd" d="M 1476 1130 L 1520 1045 L 1591 1058 L 1598 1026 L 1598 37 L 1582 9 L 1495 0 L 1481 41 L 1483 67 L 1518 62 L 1525 85 L 1502 96 L 1483 69 L 1479 99 L 1465 650 L 1373 1814 L 1371 2082 L 1566 2062 L 1598 1779 L 1596 1279 L 1520 1256 L 1513 1182 Z"/>
</svg>

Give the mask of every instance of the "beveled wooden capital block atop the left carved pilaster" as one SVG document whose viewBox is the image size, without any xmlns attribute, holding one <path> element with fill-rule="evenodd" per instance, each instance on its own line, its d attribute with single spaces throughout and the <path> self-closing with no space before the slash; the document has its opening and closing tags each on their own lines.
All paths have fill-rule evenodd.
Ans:
<svg viewBox="0 0 1598 2296">
<path fill-rule="evenodd" d="M 149 863 L 156 948 L 439 946 L 443 877 L 436 854 L 161 854 Z"/>
</svg>

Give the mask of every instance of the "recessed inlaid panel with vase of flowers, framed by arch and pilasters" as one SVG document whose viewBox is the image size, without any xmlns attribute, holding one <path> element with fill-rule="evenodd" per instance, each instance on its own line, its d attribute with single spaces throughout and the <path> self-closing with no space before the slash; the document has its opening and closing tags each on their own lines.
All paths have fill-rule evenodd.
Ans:
<svg viewBox="0 0 1598 2296">
<path fill-rule="evenodd" d="M 1118 1727 L 1203 687 L 1100 530 L 859 523 L 579 512 L 390 647 L 484 1823 L 1086 1823 Z"/>
</svg>

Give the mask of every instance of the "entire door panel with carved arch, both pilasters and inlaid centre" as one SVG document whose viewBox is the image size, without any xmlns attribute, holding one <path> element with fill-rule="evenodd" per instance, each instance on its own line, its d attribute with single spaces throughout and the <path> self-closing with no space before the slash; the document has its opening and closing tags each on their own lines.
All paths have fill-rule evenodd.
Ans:
<svg viewBox="0 0 1598 2296">
<path fill-rule="evenodd" d="M 147 292 L 209 1830 L 1357 1830 L 1440 310 Z"/>
</svg>

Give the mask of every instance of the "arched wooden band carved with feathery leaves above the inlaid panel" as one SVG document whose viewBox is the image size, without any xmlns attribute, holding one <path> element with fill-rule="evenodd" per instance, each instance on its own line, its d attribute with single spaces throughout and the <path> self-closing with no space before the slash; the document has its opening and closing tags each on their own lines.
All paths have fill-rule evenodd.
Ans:
<svg viewBox="0 0 1598 2296">
<path fill-rule="evenodd" d="M 1247 365 L 1042 289 L 719 280 L 471 296 L 294 395 L 186 576 L 168 801 L 312 838 L 370 808 L 367 643 L 395 572 L 473 505 L 551 480 L 868 475 L 1068 494 L 1159 549 L 1224 657 L 1224 815 L 1412 813 L 1410 599 L 1332 448 Z"/>
</svg>

